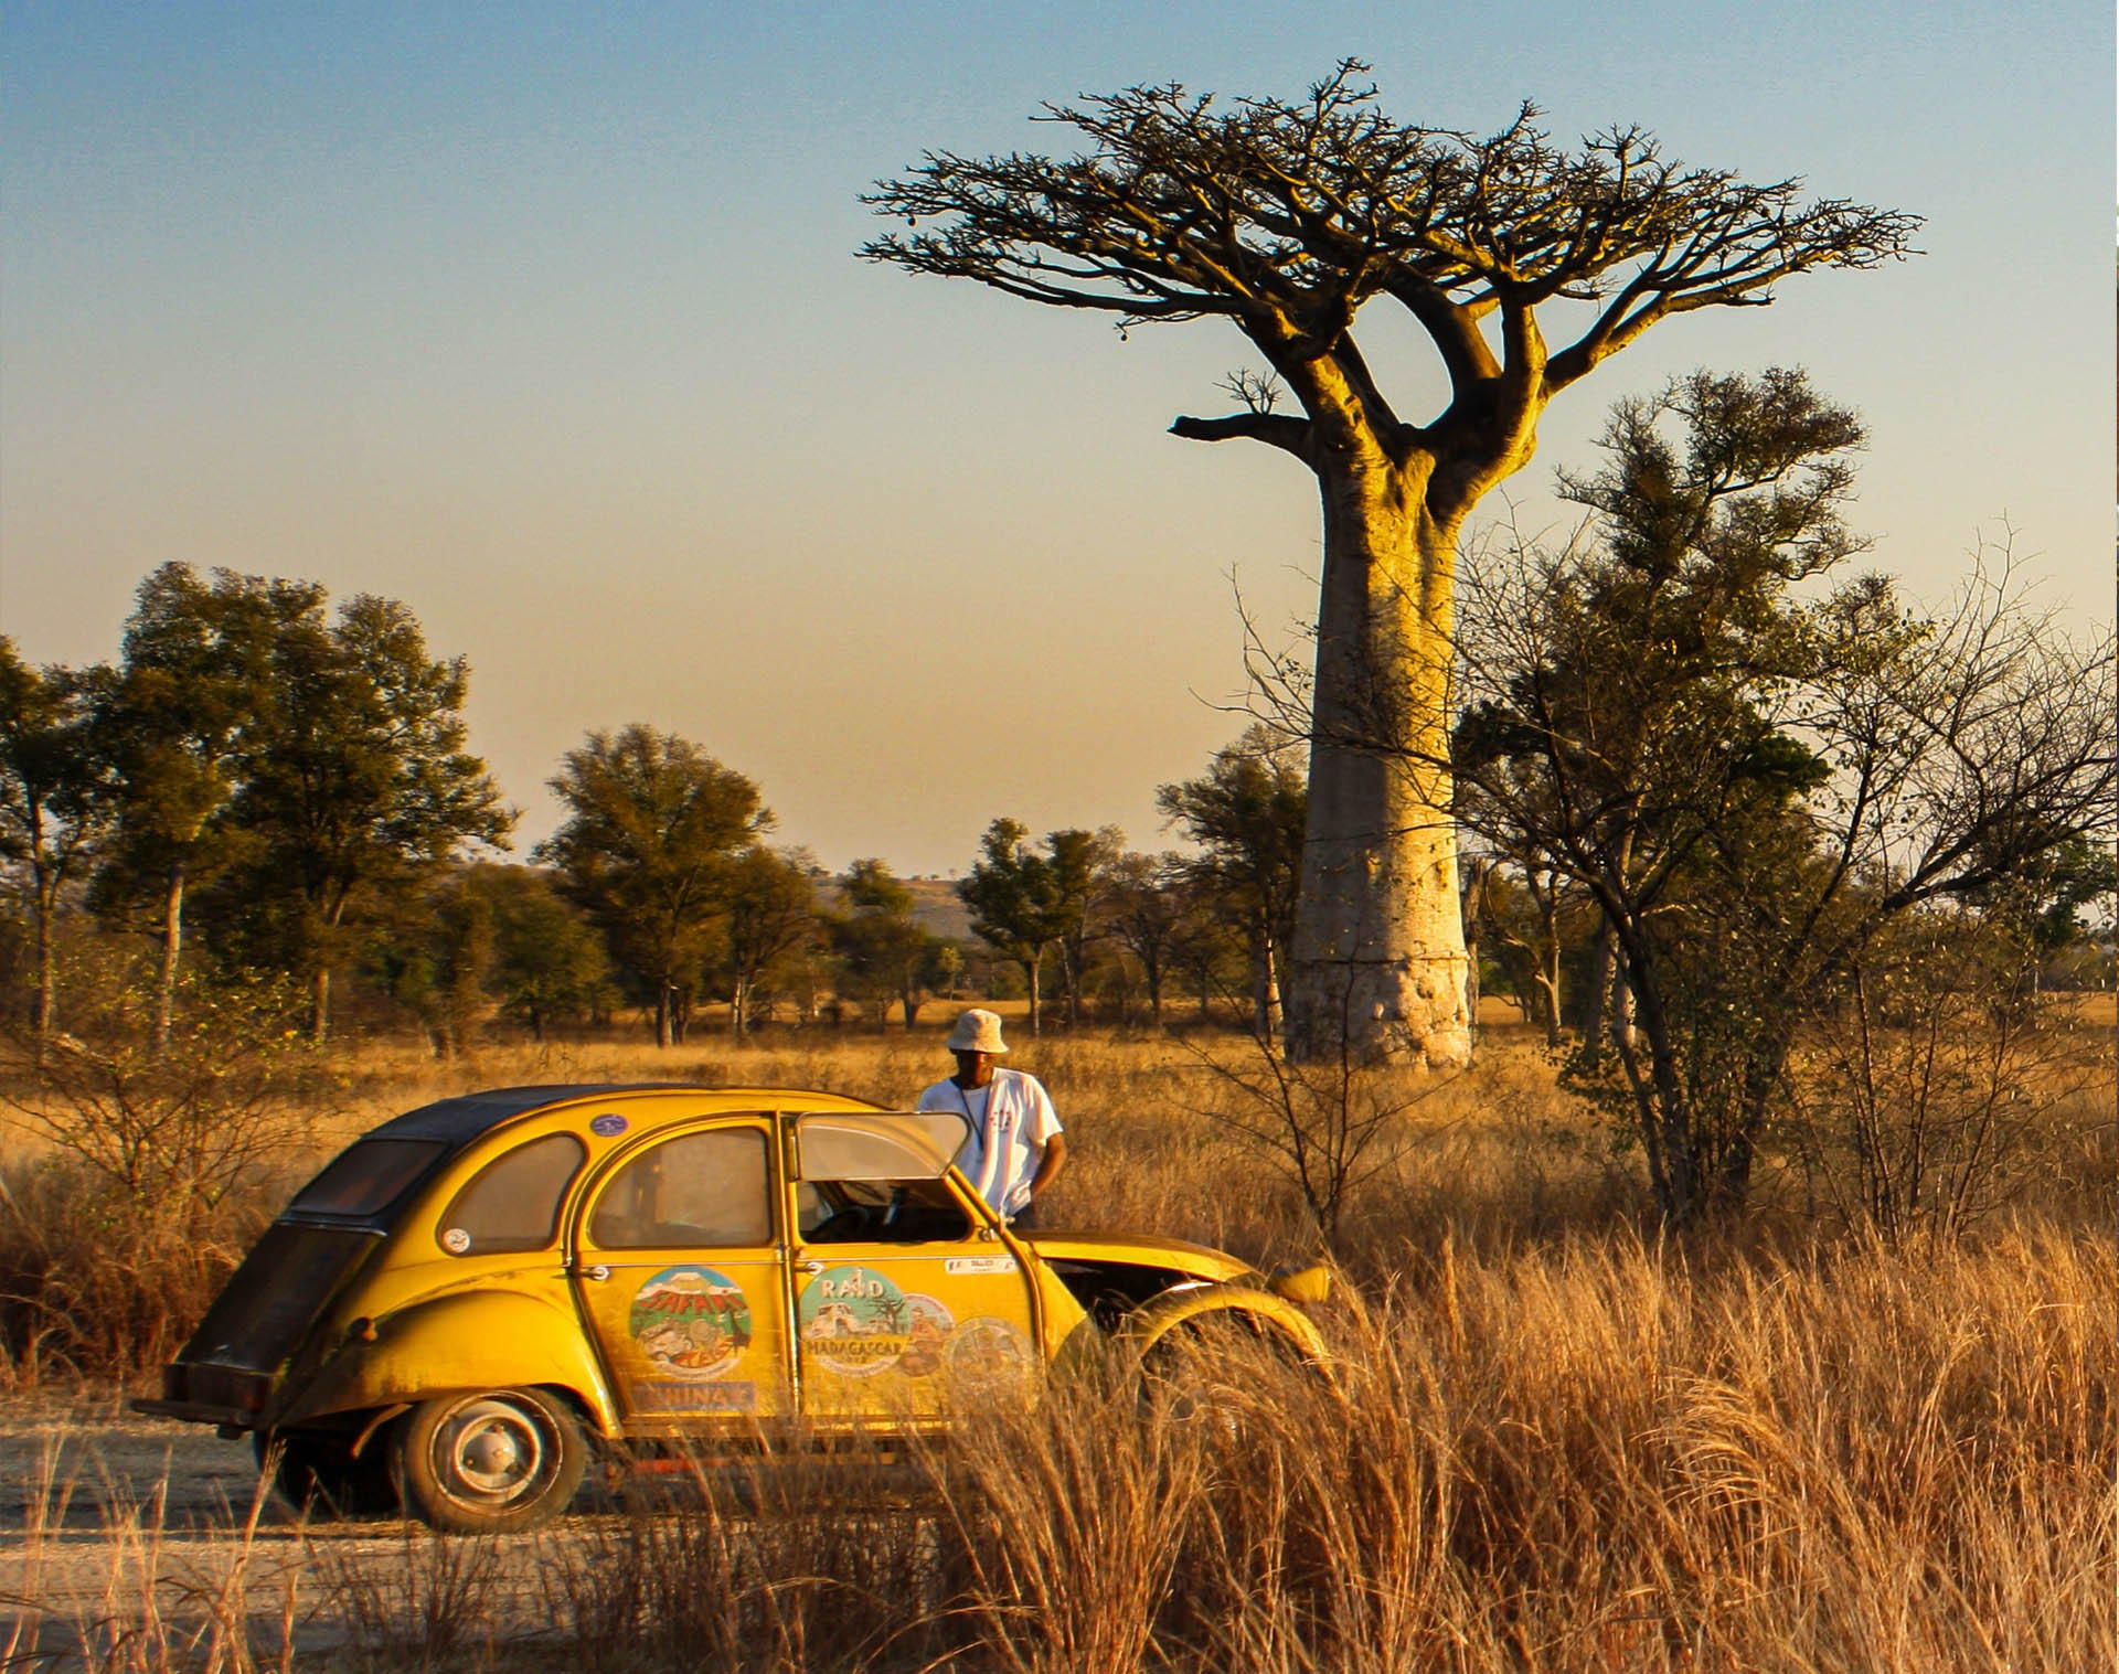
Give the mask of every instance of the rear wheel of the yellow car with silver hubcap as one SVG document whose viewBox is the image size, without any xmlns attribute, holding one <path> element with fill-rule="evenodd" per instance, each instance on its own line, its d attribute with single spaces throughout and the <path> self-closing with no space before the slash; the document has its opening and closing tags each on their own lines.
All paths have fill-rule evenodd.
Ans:
<svg viewBox="0 0 2119 1674">
<path fill-rule="evenodd" d="M 492 1390 L 422 1401 L 392 1449 L 405 1507 L 456 1534 L 534 1528 L 581 1488 L 587 1443 L 574 1415 L 542 1390 Z"/>
</svg>

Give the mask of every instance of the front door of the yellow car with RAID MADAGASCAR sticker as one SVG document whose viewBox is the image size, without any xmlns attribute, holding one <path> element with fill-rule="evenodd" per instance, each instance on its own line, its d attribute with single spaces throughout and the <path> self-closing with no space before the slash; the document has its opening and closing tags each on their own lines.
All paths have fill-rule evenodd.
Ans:
<svg viewBox="0 0 2119 1674">
<path fill-rule="evenodd" d="M 795 1331 L 803 1415 L 930 1422 L 1043 1369 L 1036 1288 L 949 1151 L 911 1117 L 797 1119 Z"/>
</svg>

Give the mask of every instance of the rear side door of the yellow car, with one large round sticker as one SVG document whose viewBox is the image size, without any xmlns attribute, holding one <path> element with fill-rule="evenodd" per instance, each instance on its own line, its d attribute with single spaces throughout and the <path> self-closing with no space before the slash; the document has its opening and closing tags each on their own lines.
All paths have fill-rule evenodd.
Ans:
<svg viewBox="0 0 2119 1674">
<path fill-rule="evenodd" d="M 793 1411 L 780 1201 L 769 1115 L 663 1129 L 591 1182 L 570 1265 L 625 1428 Z"/>
</svg>

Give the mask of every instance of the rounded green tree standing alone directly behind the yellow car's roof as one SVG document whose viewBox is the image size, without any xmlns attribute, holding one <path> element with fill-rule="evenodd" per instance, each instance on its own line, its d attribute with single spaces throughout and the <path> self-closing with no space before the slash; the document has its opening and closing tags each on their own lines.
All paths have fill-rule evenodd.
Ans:
<svg viewBox="0 0 2119 1674">
<path fill-rule="evenodd" d="M 559 890 L 646 992 L 655 1045 L 670 1047 L 716 951 L 729 862 L 771 829 L 771 812 L 733 767 L 642 725 L 589 733 L 566 752 L 551 788 L 568 818 L 536 858 L 557 869 Z"/>
</svg>

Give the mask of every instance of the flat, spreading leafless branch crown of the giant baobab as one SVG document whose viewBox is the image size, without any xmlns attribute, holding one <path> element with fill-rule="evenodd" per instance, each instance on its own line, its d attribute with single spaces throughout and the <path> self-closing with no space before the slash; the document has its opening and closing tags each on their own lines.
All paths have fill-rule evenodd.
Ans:
<svg viewBox="0 0 2119 1674">
<path fill-rule="evenodd" d="M 1087 150 L 928 153 L 865 199 L 909 231 L 862 254 L 1127 324 L 1223 316 L 1310 422 L 1257 411 L 1259 400 L 1174 428 L 1307 458 L 1333 441 L 1314 426 L 1339 415 L 1401 451 L 1454 453 L 1454 430 L 1534 422 L 1557 390 L 1670 314 L 1767 303 L 1778 280 L 1810 267 L 1875 267 L 1905 254 L 1920 225 L 1805 201 L 1801 180 L 1685 167 L 1640 127 L 1566 150 L 1530 104 L 1488 138 L 1399 123 L 1365 72 L 1348 59 L 1301 102 L 1223 106 L 1172 83 L 1047 106 L 1047 121 L 1076 129 Z M 1354 314 L 1375 297 L 1407 309 L 1449 371 L 1454 400 L 1430 426 L 1392 411 L 1354 345 Z M 1555 299 L 1593 309 L 1549 348 L 1536 309 Z M 1333 375 L 1320 381 L 1320 369 Z M 1358 411 L 1341 413 L 1348 405 Z M 1462 483 L 1466 504 L 1488 485 Z"/>
</svg>

